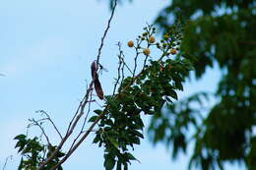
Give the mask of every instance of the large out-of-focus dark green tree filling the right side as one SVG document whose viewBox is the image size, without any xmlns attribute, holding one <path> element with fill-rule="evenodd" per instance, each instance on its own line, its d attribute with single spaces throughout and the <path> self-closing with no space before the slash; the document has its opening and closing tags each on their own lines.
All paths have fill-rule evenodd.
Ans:
<svg viewBox="0 0 256 170">
<path fill-rule="evenodd" d="M 204 76 L 207 68 L 213 67 L 213 63 L 218 63 L 222 69 L 223 75 L 216 91 L 219 102 L 209 109 L 206 118 L 197 119 L 200 120 L 199 125 L 191 127 L 192 132 L 196 131 L 192 136 L 195 149 L 190 167 L 209 170 L 217 166 L 223 168 L 226 161 L 241 161 L 249 170 L 256 168 L 256 136 L 253 133 L 256 126 L 255 4 L 255 0 L 173 0 L 156 20 L 162 30 L 171 24 L 171 17 L 189 21 L 184 30 L 181 51 L 198 59 L 195 61 L 198 79 Z M 179 108 L 179 105 L 177 102 L 172 107 Z M 194 125 L 193 119 L 187 119 L 188 115 L 194 115 L 193 106 L 188 103 L 184 110 L 187 112 L 182 118 L 180 109 L 169 109 L 168 113 L 174 115 L 174 122 L 183 119 L 187 123 L 170 126 L 168 122 L 171 120 L 165 120 L 161 114 L 154 117 L 150 127 L 150 135 L 155 137 L 153 142 L 166 142 L 168 139 L 173 143 L 174 155 L 189 142 L 184 140 L 189 135 L 180 131 L 188 124 Z M 156 124 L 158 127 L 153 126 Z M 166 133 L 169 130 L 170 133 Z M 181 136 L 175 138 L 176 131 Z M 160 136 L 162 132 L 164 135 Z M 181 142 L 176 142 L 178 139 L 182 139 Z"/>
</svg>

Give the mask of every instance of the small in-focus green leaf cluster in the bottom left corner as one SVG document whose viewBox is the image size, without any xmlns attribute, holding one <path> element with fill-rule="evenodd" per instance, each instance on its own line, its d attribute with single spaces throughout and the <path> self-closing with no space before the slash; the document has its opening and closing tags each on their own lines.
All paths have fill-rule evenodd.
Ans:
<svg viewBox="0 0 256 170">
<path fill-rule="evenodd" d="M 19 148 L 18 152 L 22 154 L 22 159 L 18 167 L 19 170 L 36 170 L 39 166 L 39 163 L 44 161 L 51 155 L 56 149 L 56 146 L 51 144 L 44 145 L 37 137 L 33 139 L 28 139 L 26 135 L 19 135 L 15 137 L 15 140 L 18 140 L 15 147 Z M 54 159 L 52 159 L 45 167 L 44 170 L 50 169 L 53 167 L 61 157 L 65 154 L 61 151 L 58 151 Z M 59 166 L 58 170 L 62 170 L 62 167 Z"/>
</svg>

